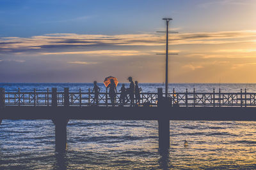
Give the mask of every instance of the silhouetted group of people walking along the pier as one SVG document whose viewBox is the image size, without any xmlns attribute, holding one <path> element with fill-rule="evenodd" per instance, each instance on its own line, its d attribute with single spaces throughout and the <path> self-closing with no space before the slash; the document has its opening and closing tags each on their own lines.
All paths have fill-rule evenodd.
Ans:
<svg viewBox="0 0 256 170">
<path fill-rule="evenodd" d="M 128 78 L 130 85 L 129 88 L 125 88 L 125 84 L 122 84 L 122 87 L 120 89 L 120 104 L 124 105 L 127 102 L 131 101 L 131 106 L 134 106 L 134 101 L 136 104 L 140 103 L 140 92 L 142 91 L 141 88 L 138 85 L 138 81 L 134 82 L 132 81 L 132 77 L 130 76 Z M 94 93 L 94 99 L 93 99 L 93 103 L 95 104 L 99 104 L 99 92 L 100 92 L 100 88 L 97 85 L 97 81 L 93 82 L 93 93 Z M 110 80 L 110 83 L 107 87 L 107 90 L 109 89 L 109 97 L 111 100 L 111 104 L 112 106 L 115 106 L 115 100 L 116 100 L 116 84 L 115 81 L 113 79 Z M 129 96 L 129 98 L 128 98 Z M 135 98 L 134 98 L 135 96 Z"/>
</svg>

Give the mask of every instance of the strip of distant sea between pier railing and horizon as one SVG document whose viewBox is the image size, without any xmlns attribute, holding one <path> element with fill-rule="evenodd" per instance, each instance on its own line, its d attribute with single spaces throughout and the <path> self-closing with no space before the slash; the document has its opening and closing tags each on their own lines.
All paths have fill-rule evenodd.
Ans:
<svg viewBox="0 0 256 170">
<path fill-rule="evenodd" d="M 117 89 L 120 90 L 122 82 L 119 82 Z M 129 82 L 125 82 L 125 87 L 129 86 Z M 106 89 L 103 82 L 98 82 L 100 89 Z M 164 83 L 140 83 L 143 92 L 157 92 L 157 88 L 163 88 Z M 74 92 L 80 88 L 82 91 L 93 88 L 93 82 L 91 83 L 0 83 L 0 87 L 7 87 L 6 90 L 16 90 L 20 87 L 20 90 L 47 90 L 51 87 L 57 87 L 58 90 L 63 90 L 64 87 L 69 87 Z M 211 92 L 213 89 L 221 89 L 223 92 L 240 92 L 240 90 L 246 89 L 247 92 L 256 92 L 256 83 L 168 83 L 168 90 L 175 89 L 176 92 L 184 92 L 186 89 L 193 90 L 195 88 L 198 92 Z M 231 90 L 231 91 L 230 91 Z"/>
</svg>

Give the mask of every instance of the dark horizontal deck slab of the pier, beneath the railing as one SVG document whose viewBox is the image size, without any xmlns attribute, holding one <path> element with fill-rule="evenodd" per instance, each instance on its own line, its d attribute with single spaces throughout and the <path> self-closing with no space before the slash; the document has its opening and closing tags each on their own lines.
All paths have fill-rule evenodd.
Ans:
<svg viewBox="0 0 256 170">
<path fill-rule="evenodd" d="M 228 107 L 40 107 L 6 106 L 0 119 L 67 120 L 240 120 L 255 121 L 256 108 Z"/>
</svg>

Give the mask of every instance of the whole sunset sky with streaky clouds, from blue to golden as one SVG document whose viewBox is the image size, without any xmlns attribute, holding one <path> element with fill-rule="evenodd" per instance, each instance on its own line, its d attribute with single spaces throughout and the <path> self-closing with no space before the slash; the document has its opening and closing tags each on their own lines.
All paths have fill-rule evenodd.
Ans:
<svg viewBox="0 0 256 170">
<path fill-rule="evenodd" d="M 256 83 L 255 0 L 0 0 L 0 82 Z"/>
</svg>

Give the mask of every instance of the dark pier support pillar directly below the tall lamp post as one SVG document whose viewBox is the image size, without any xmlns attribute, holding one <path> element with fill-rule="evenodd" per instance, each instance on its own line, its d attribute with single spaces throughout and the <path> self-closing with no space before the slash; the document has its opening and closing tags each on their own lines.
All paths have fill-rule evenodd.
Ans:
<svg viewBox="0 0 256 170">
<path fill-rule="evenodd" d="M 163 118 L 158 121 L 158 144 L 159 150 L 170 148 L 170 120 Z"/>
</svg>

